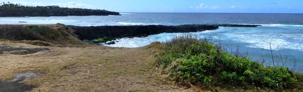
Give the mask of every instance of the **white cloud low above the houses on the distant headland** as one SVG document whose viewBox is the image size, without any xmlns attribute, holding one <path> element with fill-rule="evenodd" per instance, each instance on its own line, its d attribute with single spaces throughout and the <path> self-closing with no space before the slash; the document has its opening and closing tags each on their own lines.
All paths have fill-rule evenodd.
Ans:
<svg viewBox="0 0 303 92">
<path fill-rule="evenodd" d="M 91 5 L 85 3 L 77 3 L 77 2 L 67 2 L 67 3 L 54 3 L 52 6 L 60 6 L 60 7 L 71 7 L 71 8 L 92 8 Z"/>
</svg>

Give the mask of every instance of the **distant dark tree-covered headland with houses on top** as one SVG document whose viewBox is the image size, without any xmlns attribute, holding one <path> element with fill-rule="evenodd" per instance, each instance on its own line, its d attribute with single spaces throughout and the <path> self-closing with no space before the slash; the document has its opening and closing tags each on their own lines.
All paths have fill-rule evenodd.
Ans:
<svg viewBox="0 0 303 92">
<path fill-rule="evenodd" d="M 22 6 L 7 2 L 1 3 L 0 17 L 24 17 L 24 16 L 108 16 L 121 15 L 119 12 L 108 10 L 93 10 L 59 6 Z"/>
</svg>

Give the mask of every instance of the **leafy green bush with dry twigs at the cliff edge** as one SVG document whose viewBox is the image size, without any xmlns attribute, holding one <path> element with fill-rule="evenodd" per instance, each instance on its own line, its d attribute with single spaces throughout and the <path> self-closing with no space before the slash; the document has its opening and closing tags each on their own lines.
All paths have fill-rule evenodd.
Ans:
<svg viewBox="0 0 303 92">
<path fill-rule="evenodd" d="M 219 45 L 192 34 L 175 36 L 161 44 L 157 63 L 177 82 L 190 85 L 249 83 L 275 90 L 288 88 L 297 78 L 288 68 L 266 66 L 245 57 L 228 54 Z"/>
</svg>

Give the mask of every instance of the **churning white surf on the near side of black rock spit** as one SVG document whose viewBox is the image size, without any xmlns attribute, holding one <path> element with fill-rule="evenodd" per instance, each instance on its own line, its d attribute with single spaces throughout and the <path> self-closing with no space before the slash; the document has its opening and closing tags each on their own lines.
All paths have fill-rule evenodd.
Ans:
<svg viewBox="0 0 303 92">
<path fill-rule="evenodd" d="M 294 40 L 302 41 L 301 37 L 303 35 L 300 34 L 250 34 L 250 31 L 243 28 L 239 31 L 234 30 L 239 28 L 233 27 L 220 27 L 218 30 L 206 30 L 202 32 L 193 32 L 191 34 L 195 34 L 200 38 L 212 38 L 212 39 L 221 39 L 223 41 L 230 41 L 233 42 L 241 42 L 242 44 L 247 43 L 247 47 L 251 48 L 262 48 L 262 49 L 270 49 L 269 42 L 272 39 L 273 48 L 279 46 L 278 50 L 283 49 L 293 49 L 293 50 L 300 50 L 303 51 L 303 43 L 300 42 L 290 42 L 284 38 L 290 38 L 294 35 Z M 244 30 L 244 31 L 243 31 Z M 258 31 L 258 30 L 255 30 Z M 220 34 L 224 33 L 224 34 Z M 152 42 L 166 42 L 171 39 L 171 37 L 176 35 L 181 35 L 184 33 L 161 33 L 156 35 L 150 35 L 146 38 L 122 38 L 117 40 L 114 45 L 105 45 L 105 46 L 113 46 L 113 47 L 141 47 L 146 46 Z M 275 38 L 272 38 L 275 37 Z M 296 38 L 296 39 L 295 39 Z M 299 39 L 297 39 L 299 38 Z"/>
</svg>

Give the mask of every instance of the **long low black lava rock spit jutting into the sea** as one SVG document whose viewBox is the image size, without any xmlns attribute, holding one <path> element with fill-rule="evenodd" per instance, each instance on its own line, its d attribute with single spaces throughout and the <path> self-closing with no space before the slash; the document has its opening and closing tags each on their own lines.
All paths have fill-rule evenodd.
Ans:
<svg viewBox="0 0 303 92">
<path fill-rule="evenodd" d="M 224 27 L 257 27 L 261 25 L 240 25 L 240 24 L 216 24 L 216 25 L 180 25 L 180 26 L 68 26 L 76 30 L 80 39 L 98 38 L 123 38 L 123 37 L 146 37 L 147 35 L 160 33 L 188 33 L 204 30 L 215 30 L 219 26 Z"/>
</svg>

